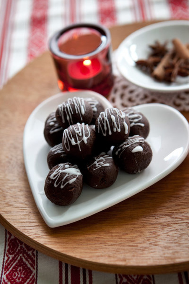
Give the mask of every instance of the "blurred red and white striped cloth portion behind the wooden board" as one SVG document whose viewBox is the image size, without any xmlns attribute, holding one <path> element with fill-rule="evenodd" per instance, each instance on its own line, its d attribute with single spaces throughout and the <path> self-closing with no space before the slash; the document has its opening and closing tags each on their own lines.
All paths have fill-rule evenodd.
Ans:
<svg viewBox="0 0 189 284">
<path fill-rule="evenodd" d="M 0 88 L 47 49 L 50 36 L 75 22 L 107 27 L 188 19 L 188 0 L 0 0 Z"/>
</svg>

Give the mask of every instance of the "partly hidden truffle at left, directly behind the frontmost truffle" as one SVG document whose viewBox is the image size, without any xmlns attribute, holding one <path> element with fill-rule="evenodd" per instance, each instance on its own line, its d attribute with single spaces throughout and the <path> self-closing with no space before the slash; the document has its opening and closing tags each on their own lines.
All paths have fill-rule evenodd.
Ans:
<svg viewBox="0 0 189 284">
<path fill-rule="evenodd" d="M 60 163 L 70 162 L 66 152 L 63 150 L 62 143 L 55 145 L 50 149 L 47 155 L 47 164 L 49 169 Z"/>
</svg>

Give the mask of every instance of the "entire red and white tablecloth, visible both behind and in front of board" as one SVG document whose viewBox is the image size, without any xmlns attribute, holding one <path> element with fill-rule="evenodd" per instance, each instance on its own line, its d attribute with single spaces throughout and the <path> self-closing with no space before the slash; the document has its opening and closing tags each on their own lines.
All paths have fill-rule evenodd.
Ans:
<svg viewBox="0 0 189 284">
<path fill-rule="evenodd" d="M 0 0 L 0 88 L 47 49 L 50 36 L 75 22 L 107 27 L 188 19 L 189 0 Z M 188 272 L 120 275 L 75 267 L 19 241 L 0 225 L 0 284 L 188 284 Z"/>
</svg>

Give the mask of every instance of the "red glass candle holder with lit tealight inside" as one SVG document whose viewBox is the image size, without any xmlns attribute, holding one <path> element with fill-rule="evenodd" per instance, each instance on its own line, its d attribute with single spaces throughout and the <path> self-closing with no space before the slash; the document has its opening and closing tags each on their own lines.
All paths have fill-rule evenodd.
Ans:
<svg viewBox="0 0 189 284">
<path fill-rule="evenodd" d="M 55 33 L 49 41 L 61 91 L 92 90 L 108 96 L 113 86 L 110 31 L 79 23 Z"/>
</svg>

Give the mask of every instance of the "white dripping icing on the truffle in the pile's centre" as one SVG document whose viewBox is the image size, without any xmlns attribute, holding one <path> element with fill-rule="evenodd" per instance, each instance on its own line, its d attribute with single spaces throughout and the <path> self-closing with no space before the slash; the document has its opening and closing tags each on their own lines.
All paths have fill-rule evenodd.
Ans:
<svg viewBox="0 0 189 284">
<path fill-rule="evenodd" d="M 78 145 L 79 151 L 82 151 L 80 143 L 83 141 L 85 144 L 87 144 L 87 139 L 91 135 L 88 124 L 78 122 L 76 125 L 70 125 L 69 128 L 66 128 L 63 132 L 64 146 L 67 151 L 70 151 L 70 143 L 73 146 Z M 75 138 L 72 135 L 72 131 L 74 131 Z"/>
</svg>

